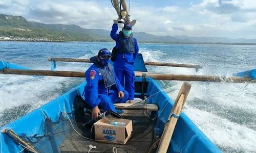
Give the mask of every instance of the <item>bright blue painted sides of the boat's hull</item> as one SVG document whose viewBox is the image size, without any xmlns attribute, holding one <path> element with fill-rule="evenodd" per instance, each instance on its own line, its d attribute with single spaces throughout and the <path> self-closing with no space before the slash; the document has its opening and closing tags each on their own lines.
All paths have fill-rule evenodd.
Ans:
<svg viewBox="0 0 256 153">
<path fill-rule="evenodd" d="M 146 78 L 147 90 L 145 95 L 153 95 L 161 90 L 155 80 Z M 145 81 L 144 80 L 144 81 Z M 141 83 L 142 78 L 136 78 L 136 83 Z M 73 131 L 71 123 L 75 125 L 74 99 L 82 93 L 83 83 L 69 92 L 59 96 L 31 113 L 1 127 L 3 130 L 13 130 L 20 138 L 26 140 L 35 147 L 38 152 L 59 152 L 59 146 L 66 136 Z M 136 93 L 139 97 L 141 93 Z M 158 106 L 158 121 L 156 126 L 160 128 L 160 134 L 164 129 L 164 123 L 168 119 L 174 101 L 164 91 L 148 98 L 149 104 Z M 1 135 L 1 149 L 3 152 L 18 152 L 23 147 L 14 142 L 7 134 Z M 174 135 L 168 148 L 168 152 L 221 152 L 198 127 L 182 112 L 177 122 Z"/>
</svg>

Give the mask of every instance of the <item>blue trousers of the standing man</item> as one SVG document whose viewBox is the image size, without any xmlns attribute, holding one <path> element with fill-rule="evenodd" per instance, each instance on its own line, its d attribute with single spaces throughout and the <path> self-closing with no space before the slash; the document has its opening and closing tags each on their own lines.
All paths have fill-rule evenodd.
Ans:
<svg viewBox="0 0 256 153">
<path fill-rule="evenodd" d="M 134 66 L 130 63 L 114 63 L 114 70 L 120 84 L 129 93 L 128 100 L 134 99 L 135 72 Z"/>
</svg>

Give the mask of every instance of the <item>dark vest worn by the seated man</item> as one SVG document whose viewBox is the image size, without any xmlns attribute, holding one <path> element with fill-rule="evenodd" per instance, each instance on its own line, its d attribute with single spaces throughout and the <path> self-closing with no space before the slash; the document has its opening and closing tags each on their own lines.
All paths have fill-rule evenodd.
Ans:
<svg viewBox="0 0 256 153">
<path fill-rule="evenodd" d="M 90 58 L 90 61 L 99 68 L 99 71 L 102 74 L 102 78 L 103 78 L 105 87 L 110 87 L 110 86 L 116 84 L 115 72 L 114 72 L 111 64 L 110 63 L 108 64 L 109 70 L 106 70 L 104 66 L 100 65 L 100 63 L 96 57 L 97 56 Z M 102 83 L 102 82 L 99 82 L 99 83 Z"/>
</svg>

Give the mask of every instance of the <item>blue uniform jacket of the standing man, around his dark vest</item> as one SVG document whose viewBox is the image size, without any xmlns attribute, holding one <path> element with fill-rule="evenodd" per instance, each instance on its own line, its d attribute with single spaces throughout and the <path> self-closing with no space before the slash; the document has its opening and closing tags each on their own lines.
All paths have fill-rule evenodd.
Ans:
<svg viewBox="0 0 256 153">
<path fill-rule="evenodd" d="M 113 40 L 116 41 L 116 48 L 120 48 L 120 42 L 119 42 L 119 35 L 117 34 L 117 30 L 118 30 L 118 26 L 117 26 L 117 23 L 114 23 L 112 25 L 112 30 L 111 30 L 111 33 L 110 33 L 110 36 Z M 126 41 L 129 41 L 129 38 L 125 38 Z M 125 53 L 125 54 L 122 54 L 122 53 L 118 53 L 116 55 L 116 60 L 115 62 L 117 63 L 123 63 L 123 60 L 122 59 L 125 59 L 126 62 L 129 62 L 129 63 L 134 63 L 134 60 L 136 59 L 136 57 L 138 56 L 139 54 L 139 46 L 138 46 L 138 42 L 137 42 L 137 39 L 133 38 L 134 39 L 134 46 L 135 46 L 135 53 Z"/>
</svg>

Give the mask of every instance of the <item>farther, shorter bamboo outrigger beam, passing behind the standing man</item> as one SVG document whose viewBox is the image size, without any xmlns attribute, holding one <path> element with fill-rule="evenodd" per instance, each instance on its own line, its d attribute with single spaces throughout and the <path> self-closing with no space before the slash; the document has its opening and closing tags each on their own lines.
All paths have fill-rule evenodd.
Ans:
<svg viewBox="0 0 256 153">
<path fill-rule="evenodd" d="M 91 63 L 89 59 L 78 59 L 78 58 L 53 58 L 53 57 L 49 57 L 48 61 Z M 152 65 L 152 66 L 172 66 L 172 67 L 186 67 L 186 68 L 203 68 L 203 66 L 201 66 L 201 65 L 193 65 L 193 64 L 164 63 L 164 62 L 150 62 L 150 61 L 145 61 L 144 63 L 145 63 L 145 65 Z"/>
</svg>

